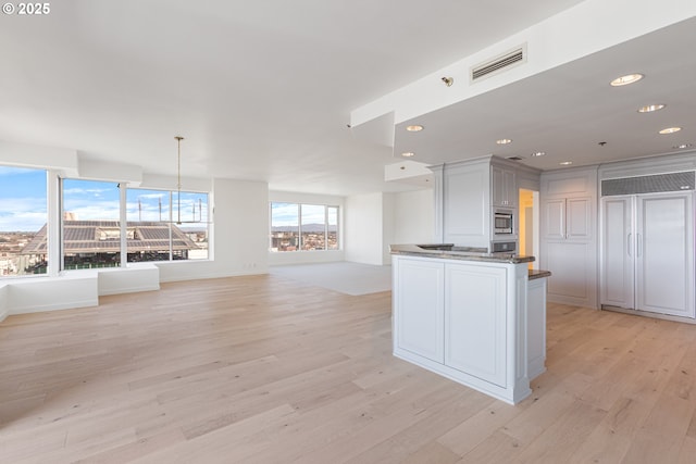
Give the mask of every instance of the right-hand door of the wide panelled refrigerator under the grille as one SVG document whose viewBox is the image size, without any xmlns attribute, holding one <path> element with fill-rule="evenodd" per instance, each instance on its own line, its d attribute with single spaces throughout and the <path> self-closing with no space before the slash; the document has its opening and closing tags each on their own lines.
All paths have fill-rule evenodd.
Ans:
<svg viewBox="0 0 696 464">
<path fill-rule="evenodd" d="M 692 195 L 642 195 L 636 208 L 636 306 L 694 317 Z"/>
</svg>

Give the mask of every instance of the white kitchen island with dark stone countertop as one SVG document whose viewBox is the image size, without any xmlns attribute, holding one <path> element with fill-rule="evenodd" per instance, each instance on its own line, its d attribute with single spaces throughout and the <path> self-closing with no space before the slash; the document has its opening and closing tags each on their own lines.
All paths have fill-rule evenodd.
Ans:
<svg viewBox="0 0 696 464">
<path fill-rule="evenodd" d="M 511 404 L 526 398 L 545 369 L 550 274 L 531 273 L 533 256 L 451 244 L 391 254 L 394 355 Z"/>
</svg>

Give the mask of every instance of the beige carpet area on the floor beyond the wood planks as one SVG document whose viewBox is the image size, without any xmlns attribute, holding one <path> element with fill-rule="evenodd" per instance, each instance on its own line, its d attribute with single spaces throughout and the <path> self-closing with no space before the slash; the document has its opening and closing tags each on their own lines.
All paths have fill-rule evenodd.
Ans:
<svg viewBox="0 0 696 464">
<path fill-rule="evenodd" d="M 347 294 L 391 290 L 391 266 L 349 262 L 271 266 L 270 274 Z"/>
</svg>

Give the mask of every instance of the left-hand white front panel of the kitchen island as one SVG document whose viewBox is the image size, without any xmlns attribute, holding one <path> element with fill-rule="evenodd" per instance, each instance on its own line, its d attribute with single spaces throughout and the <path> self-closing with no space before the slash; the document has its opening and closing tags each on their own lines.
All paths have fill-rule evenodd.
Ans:
<svg viewBox="0 0 696 464">
<path fill-rule="evenodd" d="M 395 261 L 399 283 L 395 288 L 395 343 L 443 363 L 445 265 L 408 258 Z"/>
</svg>

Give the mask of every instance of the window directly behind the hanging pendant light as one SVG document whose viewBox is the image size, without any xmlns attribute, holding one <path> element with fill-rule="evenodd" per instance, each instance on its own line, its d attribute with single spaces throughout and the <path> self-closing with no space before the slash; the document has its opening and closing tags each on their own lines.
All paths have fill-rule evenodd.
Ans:
<svg viewBox="0 0 696 464">
<path fill-rule="evenodd" d="M 208 259 L 208 195 L 127 189 L 128 262 Z"/>
</svg>

